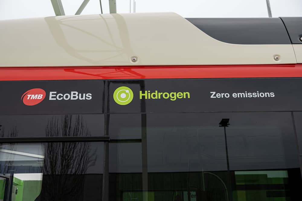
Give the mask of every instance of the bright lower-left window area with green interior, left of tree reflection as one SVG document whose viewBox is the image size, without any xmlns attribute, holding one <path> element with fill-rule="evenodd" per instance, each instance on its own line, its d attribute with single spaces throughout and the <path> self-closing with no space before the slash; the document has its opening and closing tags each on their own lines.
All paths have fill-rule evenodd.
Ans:
<svg viewBox="0 0 302 201">
<path fill-rule="evenodd" d="M 43 144 L 0 146 L 0 199 L 35 200 L 42 186 Z"/>
</svg>

